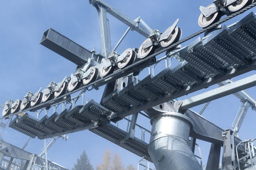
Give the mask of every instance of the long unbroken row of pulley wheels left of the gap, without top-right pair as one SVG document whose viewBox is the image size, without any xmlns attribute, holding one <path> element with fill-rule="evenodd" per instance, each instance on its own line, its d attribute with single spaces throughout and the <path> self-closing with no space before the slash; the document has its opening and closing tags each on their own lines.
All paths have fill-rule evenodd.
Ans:
<svg viewBox="0 0 256 170">
<path fill-rule="evenodd" d="M 23 101 L 19 99 L 16 101 L 6 101 L 2 115 L 14 114 L 40 103 L 45 103 L 50 99 L 60 98 L 65 93 L 72 92 L 81 86 L 91 84 L 96 79 L 112 74 L 115 69 L 123 69 L 137 60 L 144 59 L 153 54 L 157 48 L 169 47 L 181 39 L 181 28 L 178 28 L 177 24 L 178 20 L 173 26 L 167 28 L 164 33 L 159 33 L 159 30 L 153 30 L 149 38 L 139 47 L 139 50 L 128 48 L 121 55 L 118 55 L 117 52 L 112 52 L 107 59 L 103 58 L 97 66 L 92 65 L 91 59 L 89 59 L 86 64 L 78 67 L 75 74 L 71 74 L 70 77 L 65 77 L 58 84 L 55 84 L 54 81 L 50 82 L 43 92 L 41 92 L 41 89 L 35 94 L 30 91 L 24 96 Z M 139 69 L 144 69 L 144 67 L 145 65 Z"/>
</svg>

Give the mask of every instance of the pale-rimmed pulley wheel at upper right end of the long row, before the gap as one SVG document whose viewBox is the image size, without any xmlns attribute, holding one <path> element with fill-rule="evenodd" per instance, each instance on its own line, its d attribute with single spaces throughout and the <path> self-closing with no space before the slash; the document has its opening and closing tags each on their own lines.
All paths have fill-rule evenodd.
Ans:
<svg viewBox="0 0 256 170">
<path fill-rule="evenodd" d="M 169 31 L 171 27 L 167 28 L 166 31 Z M 162 40 L 160 42 L 161 47 L 168 47 L 169 45 L 174 44 L 175 42 L 178 42 L 178 40 L 180 40 L 181 38 L 181 28 L 178 28 L 178 26 L 176 26 L 174 28 L 174 31 L 171 33 L 171 35 L 169 36 L 169 38 L 167 38 L 166 40 Z"/>
</svg>

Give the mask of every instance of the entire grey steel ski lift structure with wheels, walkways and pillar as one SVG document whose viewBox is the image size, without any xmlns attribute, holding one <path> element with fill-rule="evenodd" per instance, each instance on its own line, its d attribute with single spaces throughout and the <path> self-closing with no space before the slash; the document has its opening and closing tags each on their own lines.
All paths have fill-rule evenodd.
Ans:
<svg viewBox="0 0 256 170">
<path fill-rule="evenodd" d="M 102 54 L 85 49 L 52 28 L 46 30 L 41 44 L 74 62 L 78 68 L 75 74 L 58 84 L 50 82 L 43 91 L 28 92 L 22 101 L 6 101 L 3 118 L 11 118 L 9 127 L 39 139 L 88 129 L 153 162 L 157 170 L 203 169 L 194 154 L 198 139 L 211 144 L 207 170 L 219 169 L 221 147 L 220 169 L 256 169 L 255 140 L 242 141 L 238 137 L 247 109 L 255 109 L 256 104 L 255 99 L 242 90 L 256 85 L 256 75 L 234 82 L 230 80 L 255 70 L 255 14 L 250 13 L 231 26 L 217 29 L 221 23 L 254 7 L 256 2 L 215 0 L 210 6 L 201 7 L 198 24 L 203 29 L 182 40 L 178 19 L 160 33 L 151 30 L 142 18 L 132 20 L 103 0 L 90 0 L 90 4 L 99 13 Z M 112 51 L 107 13 L 128 26 Z M 223 15 L 227 16 L 219 20 Z M 146 40 L 139 48 L 129 48 L 117 54 L 115 50 L 131 29 Z M 183 42 L 209 32 L 212 33 L 206 38 L 197 38 L 181 47 Z M 156 56 L 164 52 L 165 57 L 156 60 Z M 168 61 L 173 57 L 180 63 L 171 68 Z M 154 66 L 162 60 L 166 60 L 166 68 L 159 74 L 151 74 Z M 138 79 L 137 75 L 146 67 L 151 69 L 149 76 Z M 220 87 L 183 101 L 175 100 L 213 84 Z M 77 103 L 90 86 L 97 90 L 102 85 L 106 86 L 100 103 Z M 78 96 L 71 97 L 78 91 Z M 189 110 L 229 94 L 242 101 L 232 130 L 218 128 Z M 62 103 L 63 110 L 57 113 L 55 108 Z M 71 106 L 66 108 L 66 103 L 71 103 Z M 49 111 L 51 107 L 53 114 L 40 120 L 26 113 Z M 150 141 L 134 136 L 138 114 L 151 120 Z M 132 119 L 127 132 L 110 123 L 127 119 L 128 115 L 132 115 Z"/>
</svg>

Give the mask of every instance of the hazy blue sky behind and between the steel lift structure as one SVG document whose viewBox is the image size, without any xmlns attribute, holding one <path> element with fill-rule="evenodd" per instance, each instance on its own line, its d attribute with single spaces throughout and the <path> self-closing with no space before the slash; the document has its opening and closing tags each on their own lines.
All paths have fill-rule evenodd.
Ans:
<svg viewBox="0 0 256 170">
<path fill-rule="evenodd" d="M 183 30 L 182 38 L 185 38 L 201 29 L 197 23 L 200 14 L 198 8 L 201 5 L 207 6 L 212 1 L 112 0 L 107 2 L 129 18 L 134 19 L 141 16 L 151 28 L 159 29 L 161 32 L 164 32 L 176 18 L 179 18 L 178 26 Z M 242 16 L 227 24 L 238 21 Z M 112 47 L 114 47 L 127 26 L 110 15 L 108 17 L 110 18 Z M 50 81 L 61 81 L 63 77 L 70 76 L 75 72 L 75 64 L 39 44 L 43 32 L 48 28 L 57 30 L 88 50 L 95 48 L 97 52 L 100 52 L 101 49 L 97 11 L 94 6 L 89 4 L 88 0 L 0 0 L 0 23 L 0 103 L 2 104 L 9 98 L 22 99 L 26 92 L 35 93 L 40 87 L 48 86 Z M 142 35 L 134 31 L 129 32 L 117 52 L 121 53 L 128 47 L 139 47 L 144 39 Z M 251 74 L 255 73 L 251 72 L 236 79 Z M 90 93 L 86 93 L 86 98 L 100 101 L 102 91 L 103 88 L 99 91 L 90 91 Z M 251 96 L 256 97 L 255 88 L 247 89 L 247 91 Z M 204 116 L 221 128 L 228 129 L 233 123 L 240 104 L 239 99 L 235 96 L 226 96 L 212 101 Z M 198 106 L 193 110 L 200 111 L 201 108 L 202 106 Z M 255 132 L 252 131 L 255 128 L 255 125 L 252 124 L 255 122 L 255 117 L 255 111 L 249 109 L 241 129 L 242 139 L 255 138 Z M 23 147 L 28 137 L 7 128 L 4 140 Z M 208 144 L 200 142 L 200 145 L 203 149 L 203 156 L 207 158 Z M 42 147 L 43 140 L 34 139 L 29 142 L 26 149 L 28 152 L 39 154 Z M 55 142 L 48 152 L 48 158 L 71 169 L 84 149 L 93 166 L 100 164 L 106 149 L 118 153 L 126 165 L 136 166 L 140 159 L 88 130 L 70 134 L 68 141 L 58 140 Z M 204 163 L 206 164 L 206 162 Z"/>
</svg>

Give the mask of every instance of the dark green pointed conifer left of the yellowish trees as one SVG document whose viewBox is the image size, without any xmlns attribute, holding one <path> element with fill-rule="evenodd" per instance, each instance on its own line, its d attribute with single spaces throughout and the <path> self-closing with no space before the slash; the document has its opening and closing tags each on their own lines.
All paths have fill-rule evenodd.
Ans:
<svg viewBox="0 0 256 170">
<path fill-rule="evenodd" d="M 85 151 L 80 155 L 80 159 L 77 159 L 77 164 L 74 164 L 73 170 L 93 170 Z"/>
</svg>

